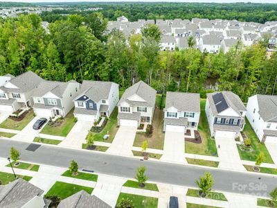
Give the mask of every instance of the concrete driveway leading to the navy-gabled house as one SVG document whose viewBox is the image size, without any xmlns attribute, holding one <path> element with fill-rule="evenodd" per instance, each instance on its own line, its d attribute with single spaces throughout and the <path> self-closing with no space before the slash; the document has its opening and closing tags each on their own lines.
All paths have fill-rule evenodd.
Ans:
<svg viewBox="0 0 277 208">
<path fill-rule="evenodd" d="M 86 143 L 86 137 L 92 125 L 92 121 L 77 121 L 64 141 L 59 144 L 59 146 L 81 149 L 82 144 Z"/>
</svg>

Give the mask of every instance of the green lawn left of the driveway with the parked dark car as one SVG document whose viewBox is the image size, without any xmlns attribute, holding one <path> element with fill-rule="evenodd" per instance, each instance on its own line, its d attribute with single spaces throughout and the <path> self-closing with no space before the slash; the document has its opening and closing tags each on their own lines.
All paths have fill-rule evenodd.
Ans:
<svg viewBox="0 0 277 208">
<path fill-rule="evenodd" d="M 24 119 L 22 119 L 21 121 L 14 121 L 14 120 L 8 118 L 0 124 L 0 128 L 9 128 L 9 129 L 13 129 L 13 130 L 23 130 L 24 127 L 28 123 L 30 123 L 30 121 L 32 121 L 34 117 L 35 117 L 35 114 L 34 114 L 33 110 L 29 110 L 26 113 L 26 115 L 24 116 Z"/>
</svg>

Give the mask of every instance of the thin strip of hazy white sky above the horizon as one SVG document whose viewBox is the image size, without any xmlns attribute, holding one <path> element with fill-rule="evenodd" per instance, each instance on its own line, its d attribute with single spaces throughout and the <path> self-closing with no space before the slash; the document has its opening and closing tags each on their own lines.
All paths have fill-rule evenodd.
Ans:
<svg viewBox="0 0 277 208">
<path fill-rule="evenodd" d="M 0 0 L 5 1 L 5 0 Z M 8 0 L 13 2 L 78 2 L 78 0 Z M 80 1 L 105 1 L 105 2 L 120 2 L 119 0 L 80 0 Z M 124 0 L 124 1 L 143 1 L 143 2 L 206 2 L 206 3 L 233 3 L 233 2 L 253 2 L 253 3 L 277 3 L 277 0 Z M 122 2 L 122 1 L 121 1 Z"/>
</svg>

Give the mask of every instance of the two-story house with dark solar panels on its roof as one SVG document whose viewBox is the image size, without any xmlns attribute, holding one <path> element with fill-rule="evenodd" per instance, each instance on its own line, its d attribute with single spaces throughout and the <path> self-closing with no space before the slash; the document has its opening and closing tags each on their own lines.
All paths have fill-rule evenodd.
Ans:
<svg viewBox="0 0 277 208">
<path fill-rule="evenodd" d="M 206 116 L 212 137 L 235 138 L 244 128 L 246 107 L 233 92 L 207 94 Z"/>
</svg>

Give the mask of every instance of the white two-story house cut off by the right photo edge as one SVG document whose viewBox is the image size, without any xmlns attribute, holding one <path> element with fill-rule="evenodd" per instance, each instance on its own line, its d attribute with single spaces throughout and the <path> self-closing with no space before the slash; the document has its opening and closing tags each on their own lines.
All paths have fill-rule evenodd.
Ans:
<svg viewBox="0 0 277 208">
<path fill-rule="evenodd" d="M 247 119 L 260 141 L 277 144 L 277 96 L 249 97 Z"/>
</svg>

